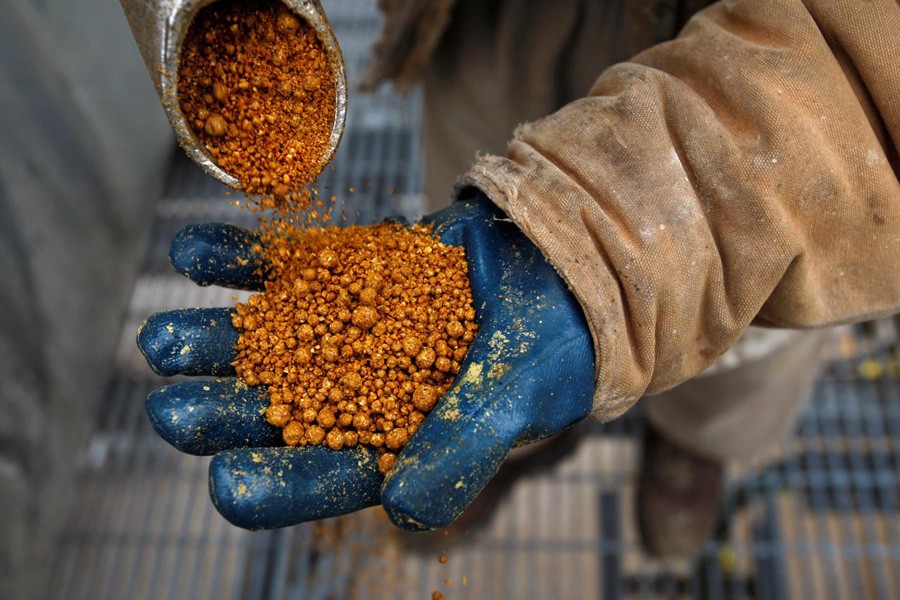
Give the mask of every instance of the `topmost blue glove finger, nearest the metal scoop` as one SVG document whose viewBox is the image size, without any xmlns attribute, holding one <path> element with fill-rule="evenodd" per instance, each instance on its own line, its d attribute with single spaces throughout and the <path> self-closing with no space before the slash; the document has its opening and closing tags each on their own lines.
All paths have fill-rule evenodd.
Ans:
<svg viewBox="0 0 900 600">
<path fill-rule="evenodd" d="M 253 246 L 259 235 L 227 223 L 188 225 L 175 234 L 169 258 L 199 285 L 263 289 L 264 264 Z"/>
</svg>

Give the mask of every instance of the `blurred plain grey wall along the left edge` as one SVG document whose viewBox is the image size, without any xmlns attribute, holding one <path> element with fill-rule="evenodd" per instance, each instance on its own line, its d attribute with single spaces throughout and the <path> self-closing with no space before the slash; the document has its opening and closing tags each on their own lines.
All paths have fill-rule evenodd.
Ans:
<svg viewBox="0 0 900 600">
<path fill-rule="evenodd" d="M 0 598 L 52 555 L 172 148 L 116 0 L 0 2 Z"/>
</svg>

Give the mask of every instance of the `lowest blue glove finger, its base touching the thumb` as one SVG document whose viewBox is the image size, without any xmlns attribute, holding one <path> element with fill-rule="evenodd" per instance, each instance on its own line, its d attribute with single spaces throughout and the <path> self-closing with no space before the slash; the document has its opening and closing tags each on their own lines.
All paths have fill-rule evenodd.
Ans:
<svg viewBox="0 0 900 600">
<path fill-rule="evenodd" d="M 209 466 L 213 503 L 234 525 L 275 529 L 378 504 L 382 477 L 364 448 L 226 450 Z"/>
</svg>

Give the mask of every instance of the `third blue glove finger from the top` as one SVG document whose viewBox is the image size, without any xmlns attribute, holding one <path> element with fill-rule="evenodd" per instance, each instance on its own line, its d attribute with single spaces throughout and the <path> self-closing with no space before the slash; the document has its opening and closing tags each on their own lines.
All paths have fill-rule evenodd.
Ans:
<svg viewBox="0 0 900 600">
<path fill-rule="evenodd" d="M 247 387 L 236 379 L 176 383 L 152 392 L 146 403 L 160 437 L 200 456 L 281 445 L 281 431 L 266 422 L 268 406 L 264 387 Z"/>
</svg>

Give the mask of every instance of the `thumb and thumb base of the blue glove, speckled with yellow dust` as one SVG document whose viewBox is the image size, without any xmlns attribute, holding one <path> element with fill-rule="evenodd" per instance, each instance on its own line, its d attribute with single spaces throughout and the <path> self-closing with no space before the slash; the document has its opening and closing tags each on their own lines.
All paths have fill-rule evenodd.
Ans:
<svg viewBox="0 0 900 600">
<path fill-rule="evenodd" d="M 479 333 L 454 386 L 388 473 L 381 503 L 395 525 L 450 525 L 514 445 L 552 435 L 590 412 L 593 355 L 584 336 L 561 339 L 525 362 L 527 336 L 505 331 Z"/>
</svg>

